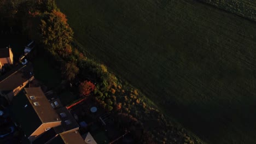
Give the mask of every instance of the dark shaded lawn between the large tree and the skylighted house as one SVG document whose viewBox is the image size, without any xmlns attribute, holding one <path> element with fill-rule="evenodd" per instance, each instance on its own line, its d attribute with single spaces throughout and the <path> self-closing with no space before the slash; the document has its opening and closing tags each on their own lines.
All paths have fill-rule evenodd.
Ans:
<svg viewBox="0 0 256 144">
<path fill-rule="evenodd" d="M 48 88 L 54 88 L 61 83 L 61 72 L 57 70 L 47 57 L 37 57 L 33 60 L 34 77 Z"/>
</svg>

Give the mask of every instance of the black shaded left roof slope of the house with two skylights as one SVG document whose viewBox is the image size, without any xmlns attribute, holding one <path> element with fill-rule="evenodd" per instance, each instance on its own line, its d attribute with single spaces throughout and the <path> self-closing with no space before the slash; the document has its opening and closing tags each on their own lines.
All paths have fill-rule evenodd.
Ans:
<svg viewBox="0 0 256 144">
<path fill-rule="evenodd" d="M 11 104 L 11 113 L 16 122 L 21 125 L 26 136 L 30 136 L 41 124 L 40 118 L 33 109 L 26 95 L 21 92 L 14 97 Z"/>
</svg>

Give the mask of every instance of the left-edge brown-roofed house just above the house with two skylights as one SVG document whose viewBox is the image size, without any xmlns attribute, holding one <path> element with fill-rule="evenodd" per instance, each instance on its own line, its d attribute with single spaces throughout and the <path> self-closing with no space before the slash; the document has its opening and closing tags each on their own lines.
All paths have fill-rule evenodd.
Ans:
<svg viewBox="0 0 256 144">
<path fill-rule="evenodd" d="M 32 65 L 30 63 L 18 65 L 18 67 L 0 77 L 0 93 L 10 103 L 14 96 L 33 79 Z"/>
</svg>

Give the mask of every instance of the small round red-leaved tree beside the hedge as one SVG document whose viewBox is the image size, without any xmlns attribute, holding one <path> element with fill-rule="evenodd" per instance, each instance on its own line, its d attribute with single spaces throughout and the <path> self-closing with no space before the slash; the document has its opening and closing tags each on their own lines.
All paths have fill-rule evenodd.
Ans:
<svg viewBox="0 0 256 144">
<path fill-rule="evenodd" d="M 79 68 L 74 63 L 68 62 L 62 67 L 61 71 L 62 76 L 68 81 L 71 81 L 75 78 L 75 75 L 78 74 Z"/>
</svg>

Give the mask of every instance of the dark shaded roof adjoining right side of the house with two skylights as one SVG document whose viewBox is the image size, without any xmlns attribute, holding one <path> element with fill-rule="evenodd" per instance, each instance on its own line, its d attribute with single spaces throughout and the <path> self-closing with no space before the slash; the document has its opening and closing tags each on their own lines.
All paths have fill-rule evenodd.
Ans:
<svg viewBox="0 0 256 144">
<path fill-rule="evenodd" d="M 66 107 L 60 107 L 59 109 L 56 110 L 56 112 L 61 118 L 62 129 L 59 129 L 59 133 L 62 133 L 63 131 L 79 128 L 77 121 L 75 121 L 74 117 L 71 115 L 71 113 L 67 110 Z"/>
</svg>

